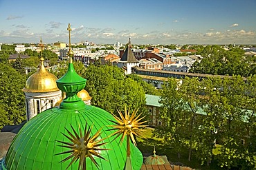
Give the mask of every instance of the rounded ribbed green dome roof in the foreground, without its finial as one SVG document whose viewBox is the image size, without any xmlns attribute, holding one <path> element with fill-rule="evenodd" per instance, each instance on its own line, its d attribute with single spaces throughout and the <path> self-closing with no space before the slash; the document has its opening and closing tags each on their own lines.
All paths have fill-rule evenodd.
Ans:
<svg viewBox="0 0 256 170">
<path fill-rule="evenodd" d="M 87 122 L 88 125 L 93 125 L 91 134 L 95 134 L 98 129 L 102 128 L 100 138 L 105 138 L 111 134 L 111 131 L 107 131 L 107 129 L 111 129 L 107 125 L 112 125 L 109 120 L 114 120 L 111 114 L 91 105 L 84 105 L 84 108 L 76 111 L 58 108 L 43 111 L 29 120 L 19 131 L 10 145 L 5 159 L 6 167 L 3 169 L 66 169 L 71 160 L 62 163 L 60 161 L 69 156 L 69 153 L 55 155 L 68 151 L 67 148 L 58 146 L 62 144 L 56 141 L 70 142 L 62 134 L 68 136 L 64 128 L 72 131 L 72 125 L 75 131 L 78 131 L 79 125 L 81 129 L 84 129 Z M 103 141 L 107 144 L 102 147 L 110 150 L 101 151 L 100 156 L 107 160 L 94 157 L 99 164 L 99 169 L 121 170 L 125 167 L 126 145 L 125 143 L 118 144 L 120 138 L 113 140 L 114 138 L 115 136 L 112 136 Z M 68 169 L 78 169 L 78 162 L 72 164 Z M 142 154 L 132 144 L 131 163 L 134 169 L 140 169 L 143 163 Z M 86 169 L 97 169 L 89 158 L 86 158 Z"/>
</svg>

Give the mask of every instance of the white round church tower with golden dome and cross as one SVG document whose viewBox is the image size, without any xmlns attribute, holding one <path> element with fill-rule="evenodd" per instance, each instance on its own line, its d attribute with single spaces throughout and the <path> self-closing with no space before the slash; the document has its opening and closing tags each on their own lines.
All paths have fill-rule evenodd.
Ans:
<svg viewBox="0 0 256 170">
<path fill-rule="evenodd" d="M 41 46 L 41 65 L 26 81 L 22 91 L 26 96 L 26 117 L 27 121 L 46 109 L 54 107 L 58 100 L 62 98 L 62 92 L 56 85 L 57 77 L 49 73 L 44 67 L 42 39 Z"/>
</svg>

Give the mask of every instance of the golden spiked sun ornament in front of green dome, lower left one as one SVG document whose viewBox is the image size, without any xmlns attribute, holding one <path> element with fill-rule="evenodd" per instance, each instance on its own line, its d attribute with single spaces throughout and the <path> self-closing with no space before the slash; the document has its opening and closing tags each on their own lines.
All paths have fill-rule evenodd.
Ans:
<svg viewBox="0 0 256 170">
<path fill-rule="evenodd" d="M 100 146 L 105 145 L 107 143 L 107 142 L 102 142 L 106 138 L 97 140 L 97 138 L 101 134 L 101 132 L 100 132 L 101 129 L 99 129 L 96 134 L 91 136 L 92 128 L 93 128 L 93 125 L 91 125 L 91 127 L 89 127 L 87 129 L 87 123 L 86 123 L 85 128 L 84 128 L 84 134 L 82 134 L 82 130 L 81 130 L 80 126 L 79 126 L 79 134 L 77 134 L 77 132 L 71 125 L 71 129 L 73 130 L 73 133 L 74 133 L 74 135 L 73 135 L 73 134 L 71 134 L 71 131 L 68 131 L 68 129 L 66 129 L 66 127 L 65 127 L 69 136 L 66 136 L 66 134 L 63 134 L 63 133 L 62 134 L 66 138 L 68 138 L 68 140 L 70 140 L 71 142 L 63 142 L 60 140 L 57 140 L 57 142 L 61 142 L 62 144 L 64 144 L 64 145 L 58 145 L 58 146 L 66 147 L 66 148 L 69 148 L 70 150 L 64 151 L 62 153 L 57 153 L 56 155 L 61 155 L 61 154 L 65 154 L 65 153 L 71 153 L 71 155 L 64 158 L 64 160 L 62 160 L 60 162 L 65 162 L 66 160 L 71 159 L 71 162 L 68 164 L 68 167 L 70 167 L 71 164 L 73 164 L 74 162 L 77 162 L 77 160 L 79 160 L 78 169 L 86 170 L 86 158 L 89 157 L 91 159 L 91 161 L 95 164 L 95 166 L 97 168 L 99 168 L 98 167 L 99 164 L 95 161 L 93 156 L 97 156 L 98 158 L 102 158 L 102 159 L 106 160 L 105 158 L 100 156 L 99 151 L 109 150 L 109 149 L 100 148 Z M 66 167 L 66 169 L 68 169 L 68 167 Z"/>
</svg>

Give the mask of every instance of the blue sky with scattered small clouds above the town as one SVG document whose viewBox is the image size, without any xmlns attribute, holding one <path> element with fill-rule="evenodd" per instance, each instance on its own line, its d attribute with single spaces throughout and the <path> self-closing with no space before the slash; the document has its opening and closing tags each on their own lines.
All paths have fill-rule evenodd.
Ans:
<svg viewBox="0 0 256 170">
<path fill-rule="evenodd" d="M 0 42 L 256 44 L 255 0 L 0 0 Z"/>
</svg>

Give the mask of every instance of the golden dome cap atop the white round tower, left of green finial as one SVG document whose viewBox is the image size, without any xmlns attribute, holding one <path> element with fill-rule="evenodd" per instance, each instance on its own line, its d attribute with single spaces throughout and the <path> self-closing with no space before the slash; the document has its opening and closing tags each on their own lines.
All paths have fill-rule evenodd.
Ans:
<svg viewBox="0 0 256 170">
<path fill-rule="evenodd" d="M 57 77 L 49 73 L 44 67 L 44 59 L 41 58 L 41 66 L 35 74 L 26 81 L 23 92 L 55 92 L 59 91 L 56 81 Z"/>
</svg>

